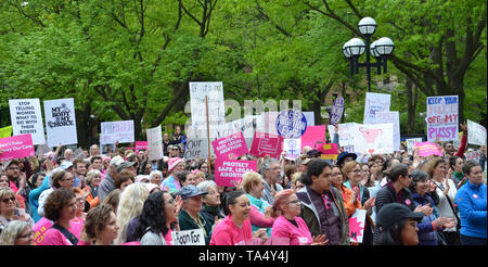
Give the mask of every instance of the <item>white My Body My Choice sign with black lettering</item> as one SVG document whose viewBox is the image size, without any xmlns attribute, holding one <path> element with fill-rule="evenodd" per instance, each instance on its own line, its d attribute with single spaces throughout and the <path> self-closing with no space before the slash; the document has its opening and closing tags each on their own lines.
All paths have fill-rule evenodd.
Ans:
<svg viewBox="0 0 488 267">
<path fill-rule="evenodd" d="M 72 98 L 44 101 L 44 115 L 49 148 L 78 143 L 75 102 Z"/>
</svg>

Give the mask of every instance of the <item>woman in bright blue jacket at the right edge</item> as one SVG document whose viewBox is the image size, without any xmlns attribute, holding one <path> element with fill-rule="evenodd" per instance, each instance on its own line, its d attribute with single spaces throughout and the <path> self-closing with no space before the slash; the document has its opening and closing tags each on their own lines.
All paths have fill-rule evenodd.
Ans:
<svg viewBox="0 0 488 267">
<path fill-rule="evenodd" d="M 487 191 L 483 183 L 483 168 L 479 162 L 471 160 L 463 166 L 467 177 L 455 194 L 461 218 L 461 245 L 486 245 Z"/>
</svg>

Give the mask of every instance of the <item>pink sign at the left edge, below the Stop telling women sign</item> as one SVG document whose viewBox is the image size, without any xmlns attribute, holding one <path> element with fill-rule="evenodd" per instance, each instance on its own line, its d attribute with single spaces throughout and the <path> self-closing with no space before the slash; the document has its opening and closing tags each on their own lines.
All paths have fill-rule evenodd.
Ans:
<svg viewBox="0 0 488 267">
<path fill-rule="evenodd" d="M 30 135 L 0 138 L 0 149 L 3 150 L 3 153 L 0 155 L 0 161 L 10 161 L 36 155 L 33 145 L 33 137 Z"/>
</svg>

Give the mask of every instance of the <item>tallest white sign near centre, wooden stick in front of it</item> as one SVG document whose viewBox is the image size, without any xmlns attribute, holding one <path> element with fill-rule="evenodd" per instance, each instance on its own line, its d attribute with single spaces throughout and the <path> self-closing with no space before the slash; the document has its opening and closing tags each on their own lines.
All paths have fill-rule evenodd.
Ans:
<svg viewBox="0 0 488 267">
<path fill-rule="evenodd" d="M 190 138 L 207 137 L 207 111 L 210 139 L 218 138 L 218 130 L 226 126 L 226 107 L 222 82 L 190 82 L 190 106 L 192 111 L 192 130 Z"/>
</svg>

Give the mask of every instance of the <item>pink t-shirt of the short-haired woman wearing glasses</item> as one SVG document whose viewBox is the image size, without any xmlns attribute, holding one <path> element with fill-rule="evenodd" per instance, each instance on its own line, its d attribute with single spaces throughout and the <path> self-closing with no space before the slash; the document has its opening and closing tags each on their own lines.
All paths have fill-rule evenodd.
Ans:
<svg viewBox="0 0 488 267">
<path fill-rule="evenodd" d="M 305 220 L 300 217 L 295 217 L 298 228 L 294 226 L 284 216 L 280 216 L 274 220 L 271 236 L 273 238 L 287 238 L 291 245 L 306 245 L 311 244 L 312 238 L 308 230 Z"/>
</svg>

